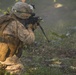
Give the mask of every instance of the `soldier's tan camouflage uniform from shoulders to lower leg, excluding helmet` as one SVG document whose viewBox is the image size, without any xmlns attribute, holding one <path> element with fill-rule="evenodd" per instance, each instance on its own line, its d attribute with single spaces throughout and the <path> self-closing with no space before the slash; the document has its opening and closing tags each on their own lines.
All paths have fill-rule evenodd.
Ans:
<svg viewBox="0 0 76 75">
<path fill-rule="evenodd" d="M 19 75 L 23 70 L 19 60 L 22 44 L 32 44 L 35 40 L 34 33 L 30 27 L 26 29 L 18 20 L 13 20 L 4 29 L 3 37 L 6 42 L 0 42 L 0 63 L 7 65 L 5 70 L 8 72 Z"/>
</svg>

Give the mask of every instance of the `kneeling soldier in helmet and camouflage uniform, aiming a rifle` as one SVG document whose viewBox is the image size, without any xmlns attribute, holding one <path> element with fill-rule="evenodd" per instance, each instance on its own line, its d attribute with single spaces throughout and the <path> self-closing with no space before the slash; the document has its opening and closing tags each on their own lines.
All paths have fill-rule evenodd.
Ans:
<svg viewBox="0 0 76 75">
<path fill-rule="evenodd" d="M 32 24 L 25 27 L 25 19 L 33 14 L 30 6 L 24 2 L 17 2 L 11 10 L 12 19 L 3 30 L 0 40 L 0 63 L 6 65 L 5 70 L 20 75 L 23 65 L 19 58 L 23 44 L 30 45 L 35 40 Z M 5 24 L 5 23 L 4 23 Z M 35 27 L 33 28 L 35 29 Z"/>
</svg>

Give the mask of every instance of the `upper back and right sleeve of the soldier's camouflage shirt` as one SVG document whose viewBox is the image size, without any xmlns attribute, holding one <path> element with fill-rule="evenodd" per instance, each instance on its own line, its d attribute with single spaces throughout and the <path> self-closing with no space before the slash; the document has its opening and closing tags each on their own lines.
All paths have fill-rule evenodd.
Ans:
<svg viewBox="0 0 76 75">
<path fill-rule="evenodd" d="M 4 31 L 4 34 L 14 35 L 24 42 L 25 44 L 31 44 L 35 40 L 34 32 L 31 27 L 26 29 L 20 22 L 13 21 Z"/>
</svg>

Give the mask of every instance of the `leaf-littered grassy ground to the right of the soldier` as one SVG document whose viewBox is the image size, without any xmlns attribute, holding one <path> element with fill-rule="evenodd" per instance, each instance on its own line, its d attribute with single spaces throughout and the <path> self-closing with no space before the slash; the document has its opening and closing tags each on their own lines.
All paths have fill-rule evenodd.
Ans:
<svg viewBox="0 0 76 75">
<path fill-rule="evenodd" d="M 23 50 L 21 60 L 25 69 L 22 75 L 76 75 L 76 36 L 58 36 L 57 33 L 48 35 L 49 39 L 56 38 L 48 43 L 43 34 L 36 31 L 35 43 Z"/>
</svg>

